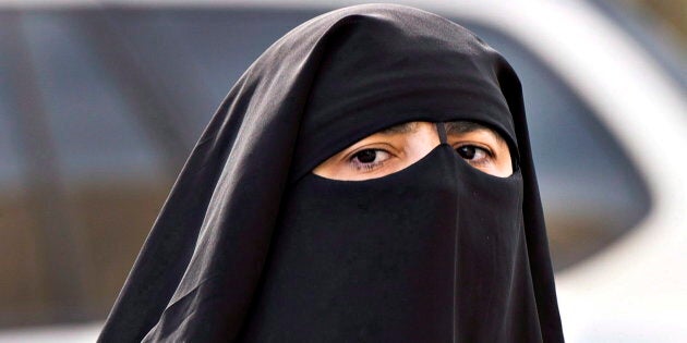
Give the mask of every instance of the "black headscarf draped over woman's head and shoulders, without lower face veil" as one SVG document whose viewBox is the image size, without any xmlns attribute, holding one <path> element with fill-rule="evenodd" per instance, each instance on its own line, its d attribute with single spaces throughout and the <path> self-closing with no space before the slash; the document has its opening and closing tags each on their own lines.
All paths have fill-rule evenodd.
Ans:
<svg viewBox="0 0 687 343">
<path fill-rule="evenodd" d="M 269 310 L 261 298 L 278 268 L 266 266 L 277 266 L 270 259 L 281 254 L 274 250 L 276 231 L 289 220 L 285 211 L 294 194 L 304 196 L 298 186 L 309 182 L 310 171 L 378 130 L 455 120 L 484 123 L 516 149 L 520 206 L 510 218 L 518 230 L 513 254 L 504 257 L 510 266 L 507 284 L 498 285 L 504 296 L 453 303 L 453 310 L 469 318 L 486 308 L 486 321 L 498 320 L 479 324 L 499 332 L 495 339 L 563 341 L 517 75 L 461 26 L 386 4 L 315 17 L 242 75 L 179 175 L 99 341 L 250 341 L 246 330 L 254 329 L 246 328 Z M 432 158 L 445 160 L 446 154 Z M 486 210 L 499 212 L 498 206 Z M 317 323 L 302 326 L 314 332 Z M 450 335 L 491 340 L 456 332 L 446 340 Z"/>
</svg>

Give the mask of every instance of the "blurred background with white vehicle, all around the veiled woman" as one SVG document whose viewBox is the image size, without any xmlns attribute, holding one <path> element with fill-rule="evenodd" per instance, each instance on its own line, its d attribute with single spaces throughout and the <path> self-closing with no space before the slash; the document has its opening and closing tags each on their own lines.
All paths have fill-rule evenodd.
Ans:
<svg viewBox="0 0 687 343">
<path fill-rule="evenodd" d="M 94 341 L 231 85 L 352 3 L 0 0 L 0 342 Z M 521 77 L 568 341 L 686 341 L 687 0 L 402 3 Z"/>
</svg>

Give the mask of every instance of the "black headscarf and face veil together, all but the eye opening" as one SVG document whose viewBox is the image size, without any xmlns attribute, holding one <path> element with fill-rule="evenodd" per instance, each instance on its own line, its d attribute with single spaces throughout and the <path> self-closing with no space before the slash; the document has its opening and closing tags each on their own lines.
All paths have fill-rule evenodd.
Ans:
<svg viewBox="0 0 687 343">
<path fill-rule="evenodd" d="M 519 163 L 446 144 L 361 182 L 311 171 L 382 128 L 472 121 Z M 231 89 L 101 342 L 562 342 L 519 81 L 466 28 L 398 5 L 315 17 Z"/>
</svg>

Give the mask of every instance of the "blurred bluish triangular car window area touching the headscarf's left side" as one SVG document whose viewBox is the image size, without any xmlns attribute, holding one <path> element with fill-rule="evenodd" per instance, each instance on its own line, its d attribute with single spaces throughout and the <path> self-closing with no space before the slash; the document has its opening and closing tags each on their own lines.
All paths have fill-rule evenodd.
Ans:
<svg viewBox="0 0 687 343">
<path fill-rule="evenodd" d="M 324 11 L 323 11 L 324 12 Z M 284 34 L 320 14 L 310 11 L 167 10 L 108 13 L 136 59 L 174 101 L 195 142 L 231 86 Z"/>
</svg>

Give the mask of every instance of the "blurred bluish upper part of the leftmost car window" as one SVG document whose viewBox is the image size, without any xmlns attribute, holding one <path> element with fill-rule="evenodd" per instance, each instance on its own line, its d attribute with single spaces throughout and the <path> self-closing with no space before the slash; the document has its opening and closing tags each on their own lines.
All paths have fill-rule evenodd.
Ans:
<svg viewBox="0 0 687 343">
<path fill-rule="evenodd" d="M 22 28 L 64 177 L 159 171 L 159 154 L 74 15 L 32 13 Z"/>
</svg>

